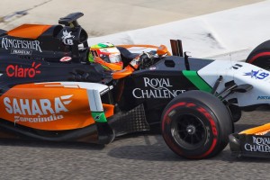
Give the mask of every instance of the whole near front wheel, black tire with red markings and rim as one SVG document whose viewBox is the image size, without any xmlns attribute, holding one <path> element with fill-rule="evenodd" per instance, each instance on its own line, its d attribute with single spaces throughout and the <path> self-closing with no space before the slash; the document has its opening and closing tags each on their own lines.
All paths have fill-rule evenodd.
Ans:
<svg viewBox="0 0 270 180">
<path fill-rule="evenodd" d="M 162 136 L 177 155 L 208 158 L 229 142 L 233 123 L 220 100 L 202 91 L 180 94 L 166 105 L 161 117 Z"/>
</svg>

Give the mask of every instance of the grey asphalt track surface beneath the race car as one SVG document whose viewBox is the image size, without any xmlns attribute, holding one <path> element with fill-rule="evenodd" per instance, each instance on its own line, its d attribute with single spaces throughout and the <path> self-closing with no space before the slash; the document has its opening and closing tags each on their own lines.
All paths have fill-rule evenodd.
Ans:
<svg viewBox="0 0 270 180">
<path fill-rule="evenodd" d="M 243 112 L 237 131 L 268 122 L 270 108 Z M 269 179 L 269 160 L 233 157 L 229 146 L 204 160 L 176 156 L 157 133 L 83 143 L 0 140 L 0 179 Z"/>
</svg>

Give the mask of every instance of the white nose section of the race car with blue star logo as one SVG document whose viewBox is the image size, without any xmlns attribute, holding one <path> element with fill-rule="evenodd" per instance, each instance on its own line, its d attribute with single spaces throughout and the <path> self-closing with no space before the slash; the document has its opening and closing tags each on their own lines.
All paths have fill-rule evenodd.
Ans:
<svg viewBox="0 0 270 180">
<path fill-rule="evenodd" d="M 210 85 L 218 76 L 223 76 L 224 83 L 234 81 L 236 85 L 248 84 L 250 87 L 254 87 L 250 90 L 248 89 L 243 94 L 238 92 L 238 94 L 230 95 L 230 98 L 233 96 L 237 98 L 238 106 L 241 108 L 269 103 L 269 100 L 266 98 L 269 94 L 266 85 L 270 83 L 270 74 L 260 67 L 255 67 L 244 62 L 231 62 L 230 64 L 228 61 L 214 61 L 209 66 L 198 70 L 198 75 L 202 76 Z M 220 84 L 217 92 L 222 91 L 222 86 L 224 87 L 225 85 Z"/>
</svg>

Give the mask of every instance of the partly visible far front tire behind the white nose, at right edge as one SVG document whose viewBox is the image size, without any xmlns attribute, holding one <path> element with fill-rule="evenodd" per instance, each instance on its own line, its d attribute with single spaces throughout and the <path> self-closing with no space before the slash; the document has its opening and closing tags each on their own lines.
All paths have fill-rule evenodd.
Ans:
<svg viewBox="0 0 270 180">
<path fill-rule="evenodd" d="M 270 40 L 266 40 L 253 49 L 247 57 L 247 63 L 270 70 Z"/>
</svg>

